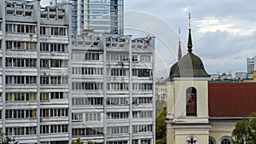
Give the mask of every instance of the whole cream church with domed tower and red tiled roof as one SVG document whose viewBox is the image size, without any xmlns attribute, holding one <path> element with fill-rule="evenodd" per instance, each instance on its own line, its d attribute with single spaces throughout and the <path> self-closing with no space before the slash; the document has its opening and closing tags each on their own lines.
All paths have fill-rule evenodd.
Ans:
<svg viewBox="0 0 256 144">
<path fill-rule="evenodd" d="M 188 52 L 182 56 L 179 41 L 169 78 L 167 144 L 230 144 L 236 123 L 256 112 L 256 83 L 208 81 L 203 61 L 193 52 L 190 24 Z"/>
</svg>

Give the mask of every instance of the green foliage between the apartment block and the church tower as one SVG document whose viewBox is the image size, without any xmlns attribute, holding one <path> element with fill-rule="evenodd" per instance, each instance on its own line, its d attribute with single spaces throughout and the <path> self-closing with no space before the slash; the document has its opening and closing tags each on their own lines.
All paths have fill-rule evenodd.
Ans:
<svg viewBox="0 0 256 144">
<path fill-rule="evenodd" d="M 156 144 L 166 144 L 166 108 L 162 109 L 160 115 L 155 119 Z"/>
</svg>

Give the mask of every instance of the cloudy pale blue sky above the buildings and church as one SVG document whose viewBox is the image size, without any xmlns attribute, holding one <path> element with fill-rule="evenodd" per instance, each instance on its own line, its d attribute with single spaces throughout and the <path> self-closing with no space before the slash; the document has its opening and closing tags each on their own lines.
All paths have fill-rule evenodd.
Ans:
<svg viewBox="0 0 256 144">
<path fill-rule="evenodd" d="M 177 61 L 179 28 L 187 53 L 190 13 L 193 53 L 209 74 L 235 77 L 247 72 L 247 57 L 256 55 L 255 9 L 255 0 L 125 0 L 125 34 L 155 37 L 157 77 L 167 77 Z"/>
</svg>

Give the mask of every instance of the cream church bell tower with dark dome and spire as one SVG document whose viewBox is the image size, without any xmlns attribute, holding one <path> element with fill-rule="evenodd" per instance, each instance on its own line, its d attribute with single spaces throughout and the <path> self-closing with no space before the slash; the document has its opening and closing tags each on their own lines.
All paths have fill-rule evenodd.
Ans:
<svg viewBox="0 0 256 144">
<path fill-rule="evenodd" d="M 172 66 L 169 75 L 167 144 L 206 144 L 209 141 L 209 75 L 202 60 L 192 52 L 190 20 L 189 14 L 188 52 Z"/>
</svg>

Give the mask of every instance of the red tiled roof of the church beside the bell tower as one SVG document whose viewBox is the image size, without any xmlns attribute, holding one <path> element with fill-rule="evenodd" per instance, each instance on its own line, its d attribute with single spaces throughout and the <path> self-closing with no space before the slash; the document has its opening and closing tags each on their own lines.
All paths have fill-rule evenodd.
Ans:
<svg viewBox="0 0 256 144">
<path fill-rule="evenodd" d="M 210 117 L 245 117 L 256 112 L 256 83 L 208 84 Z"/>
</svg>

